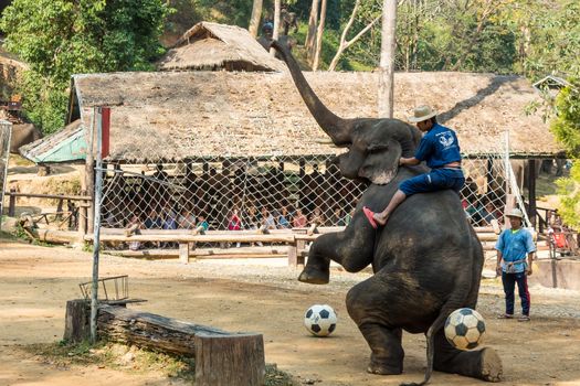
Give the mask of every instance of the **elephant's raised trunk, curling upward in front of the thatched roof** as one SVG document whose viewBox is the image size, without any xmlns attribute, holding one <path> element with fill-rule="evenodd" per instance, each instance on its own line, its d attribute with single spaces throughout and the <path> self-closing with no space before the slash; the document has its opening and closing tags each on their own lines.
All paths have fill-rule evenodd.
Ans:
<svg viewBox="0 0 580 386">
<path fill-rule="evenodd" d="M 308 82 L 306 82 L 298 63 L 296 63 L 296 60 L 294 60 L 289 51 L 283 44 L 272 41 L 272 46 L 280 52 L 282 58 L 286 62 L 292 78 L 294 79 L 304 103 L 320 128 L 330 137 L 336 146 L 349 144 L 351 142 L 350 132 L 352 130 L 352 121 L 338 117 L 320 101 L 318 96 L 310 88 Z"/>
</svg>

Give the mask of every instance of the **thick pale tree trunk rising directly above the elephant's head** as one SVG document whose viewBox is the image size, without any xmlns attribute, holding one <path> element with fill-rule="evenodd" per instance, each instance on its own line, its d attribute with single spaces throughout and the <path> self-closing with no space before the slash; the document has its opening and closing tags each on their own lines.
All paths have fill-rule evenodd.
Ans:
<svg viewBox="0 0 580 386">
<path fill-rule="evenodd" d="M 379 66 L 379 117 L 392 118 L 397 0 L 382 3 L 381 62 Z"/>
</svg>

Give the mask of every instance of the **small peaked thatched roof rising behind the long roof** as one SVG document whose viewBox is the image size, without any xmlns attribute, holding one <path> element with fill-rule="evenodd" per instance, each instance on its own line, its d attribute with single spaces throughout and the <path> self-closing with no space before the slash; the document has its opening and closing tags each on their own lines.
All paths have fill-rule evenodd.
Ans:
<svg viewBox="0 0 580 386">
<path fill-rule="evenodd" d="M 159 71 L 285 69 L 284 63 L 271 56 L 247 30 L 210 22 L 198 23 L 188 30 L 157 67 Z"/>
</svg>

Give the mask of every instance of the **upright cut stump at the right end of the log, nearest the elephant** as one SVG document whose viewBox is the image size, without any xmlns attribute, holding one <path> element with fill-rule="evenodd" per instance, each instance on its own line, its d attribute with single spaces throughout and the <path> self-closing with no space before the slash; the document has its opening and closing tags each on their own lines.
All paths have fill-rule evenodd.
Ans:
<svg viewBox="0 0 580 386">
<path fill-rule="evenodd" d="M 262 334 L 196 334 L 197 386 L 262 386 L 265 377 Z"/>
</svg>

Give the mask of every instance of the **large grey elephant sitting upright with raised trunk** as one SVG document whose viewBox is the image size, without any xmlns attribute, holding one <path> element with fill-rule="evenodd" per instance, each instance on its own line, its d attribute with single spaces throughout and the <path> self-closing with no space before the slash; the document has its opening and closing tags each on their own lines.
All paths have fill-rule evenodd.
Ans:
<svg viewBox="0 0 580 386">
<path fill-rule="evenodd" d="M 324 234 L 312 244 L 298 280 L 329 282 L 330 260 L 346 271 L 372 267 L 373 276 L 357 283 L 346 297 L 349 317 L 370 346 L 367 371 L 394 375 L 403 372 L 402 331 L 426 336 L 424 385 L 433 369 L 499 382 L 502 360 L 492 347 L 460 351 L 445 339 L 444 323 L 458 308 L 475 309 L 484 264 L 482 244 L 452 190 L 409 196 L 387 224 L 375 229 L 362 213 L 383 208 L 398 184 L 424 173 L 424 164 L 399 167 L 410 158 L 421 132 L 398 119 L 345 119 L 330 111 L 306 82 L 286 47 L 273 41 L 318 126 L 347 152 L 338 156 L 340 173 L 369 184 L 350 224 Z"/>
</svg>

